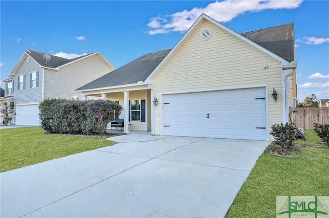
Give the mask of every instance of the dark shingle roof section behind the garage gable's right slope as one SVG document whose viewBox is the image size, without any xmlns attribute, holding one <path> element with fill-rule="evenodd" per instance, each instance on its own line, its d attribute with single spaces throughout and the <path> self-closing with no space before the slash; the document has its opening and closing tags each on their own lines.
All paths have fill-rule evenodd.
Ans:
<svg viewBox="0 0 329 218">
<path fill-rule="evenodd" d="M 295 60 L 294 23 L 242 33 L 241 35 L 289 62 Z"/>
</svg>

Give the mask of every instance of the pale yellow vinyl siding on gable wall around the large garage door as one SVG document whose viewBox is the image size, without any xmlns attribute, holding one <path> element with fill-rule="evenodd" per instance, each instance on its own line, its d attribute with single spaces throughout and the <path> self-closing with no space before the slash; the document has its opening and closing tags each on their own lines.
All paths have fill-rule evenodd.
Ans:
<svg viewBox="0 0 329 218">
<path fill-rule="evenodd" d="M 211 38 L 200 39 L 210 29 Z M 265 66 L 268 69 L 265 69 Z M 268 128 L 283 121 L 281 63 L 205 20 L 153 78 L 159 105 L 163 94 L 238 89 L 267 85 Z M 277 103 L 272 90 L 278 92 Z M 160 132 L 160 108 L 155 108 L 155 134 Z M 270 131 L 269 131 L 270 132 Z M 271 139 L 271 138 L 270 138 Z"/>
</svg>

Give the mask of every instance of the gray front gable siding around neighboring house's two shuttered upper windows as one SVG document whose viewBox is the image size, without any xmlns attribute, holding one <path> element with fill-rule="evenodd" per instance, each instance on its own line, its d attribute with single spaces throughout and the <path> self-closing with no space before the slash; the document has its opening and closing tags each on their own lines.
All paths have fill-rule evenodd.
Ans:
<svg viewBox="0 0 329 218">
<path fill-rule="evenodd" d="M 35 88 L 30 88 L 30 74 L 34 72 L 39 72 L 39 86 Z M 25 89 L 18 90 L 18 77 L 20 75 L 25 75 Z M 22 62 L 20 68 L 17 70 L 14 76 L 14 95 L 15 104 L 25 104 L 25 103 L 35 103 L 42 101 L 42 69 L 39 64 L 36 63 L 32 58 L 29 62 L 26 62 L 26 58 Z"/>
</svg>

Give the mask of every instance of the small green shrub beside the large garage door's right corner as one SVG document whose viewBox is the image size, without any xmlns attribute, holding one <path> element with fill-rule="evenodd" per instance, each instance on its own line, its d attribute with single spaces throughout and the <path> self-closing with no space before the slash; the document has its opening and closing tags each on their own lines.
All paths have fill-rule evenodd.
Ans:
<svg viewBox="0 0 329 218">
<path fill-rule="evenodd" d="M 272 132 L 270 134 L 275 138 L 277 144 L 281 146 L 283 150 L 291 151 L 294 147 L 295 141 L 295 127 L 286 123 L 272 125 Z"/>
</svg>

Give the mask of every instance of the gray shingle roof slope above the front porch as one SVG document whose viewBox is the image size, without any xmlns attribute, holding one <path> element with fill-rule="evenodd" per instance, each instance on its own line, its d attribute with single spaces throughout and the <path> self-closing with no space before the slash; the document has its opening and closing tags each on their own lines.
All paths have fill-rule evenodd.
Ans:
<svg viewBox="0 0 329 218">
<path fill-rule="evenodd" d="M 144 54 L 124 66 L 85 84 L 77 90 L 88 90 L 144 81 L 171 49 Z"/>
</svg>

